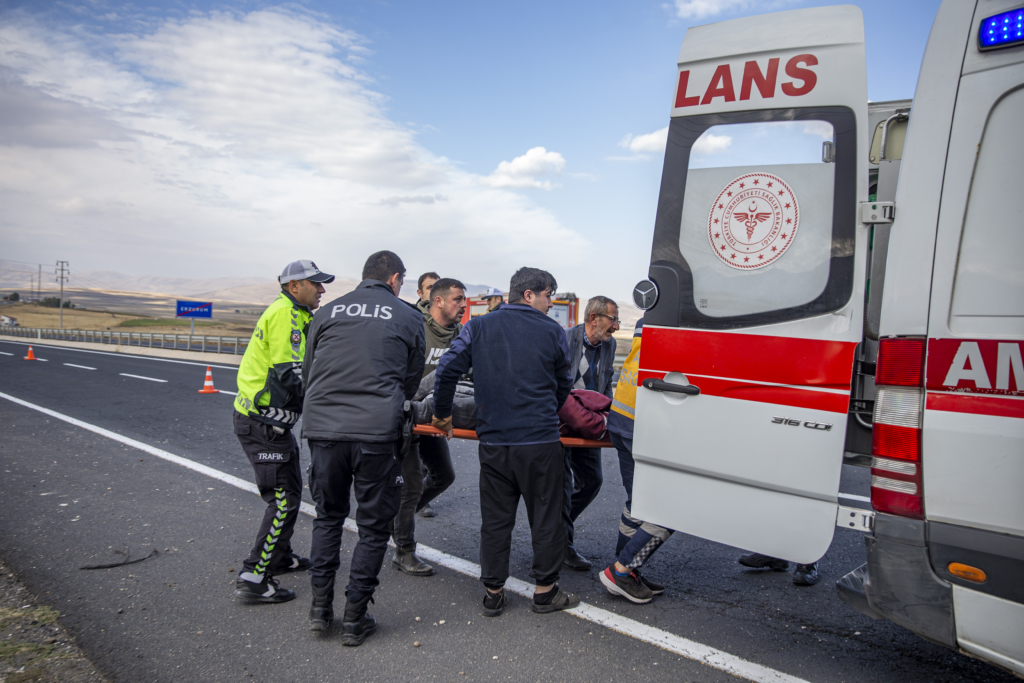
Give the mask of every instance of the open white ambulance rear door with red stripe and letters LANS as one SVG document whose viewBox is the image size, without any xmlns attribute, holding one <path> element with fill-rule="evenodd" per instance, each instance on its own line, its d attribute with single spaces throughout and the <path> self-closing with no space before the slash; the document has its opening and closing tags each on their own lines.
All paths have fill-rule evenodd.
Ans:
<svg viewBox="0 0 1024 683">
<path fill-rule="evenodd" d="M 836 526 L 867 227 L 853 6 L 687 31 L 646 308 L 635 516 L 797 562 Z"/>
</svg>

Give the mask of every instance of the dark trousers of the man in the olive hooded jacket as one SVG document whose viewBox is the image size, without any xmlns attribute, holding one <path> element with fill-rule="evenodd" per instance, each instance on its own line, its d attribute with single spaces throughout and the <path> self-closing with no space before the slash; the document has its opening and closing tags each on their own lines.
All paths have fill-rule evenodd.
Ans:
<svg viewBox="0 0 1024 683">
<path fill-rule="evenodd" d="M 413 446 L 401 464 L 401 476 L 406 483 L 401 486 L 401 505 L 394 518 L 392 536 L 396 546 L 409 548 L 416 544 L 416 511 L 444 493 L 455 481 L 447 439 L 414 436 Z"/>
</svg>

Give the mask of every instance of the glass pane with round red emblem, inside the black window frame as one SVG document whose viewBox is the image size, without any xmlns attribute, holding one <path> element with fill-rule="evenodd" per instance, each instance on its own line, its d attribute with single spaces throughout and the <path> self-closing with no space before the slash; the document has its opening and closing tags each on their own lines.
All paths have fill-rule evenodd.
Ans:
<svg viewBox="0 0 1024 683">
<path fill-rule="evenodd" d="M 713 126 L 693 143 L 679 251 L 693 305 L 731 317 L 807 304 L 824 291 L 836 165 L 824 121 Z"/>
</svg>

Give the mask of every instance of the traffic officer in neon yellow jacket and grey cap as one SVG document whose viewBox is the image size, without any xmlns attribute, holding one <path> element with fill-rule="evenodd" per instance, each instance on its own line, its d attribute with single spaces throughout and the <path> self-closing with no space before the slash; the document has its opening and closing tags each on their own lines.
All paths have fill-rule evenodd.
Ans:
<svg viewBox="0 0 1024 683">
<path fill-rule="evenodd" d="M 295 593 L 280 588 L 273 575 L 309 568 L 309 560 L 295 555 L 291 546 L 302 496 L 292 427 L 302 413 L 306 331 L 324 283 L 334 282 L 334 275 L 312 261 L 293 261 L 279 281 L 281 294 L 260 315 L 242 357 L 234 397 L 234 434 L 267 504 L 256 545 L 234 584 L 234 595 L 248 602 L 291 600 Z"/>
</svg>

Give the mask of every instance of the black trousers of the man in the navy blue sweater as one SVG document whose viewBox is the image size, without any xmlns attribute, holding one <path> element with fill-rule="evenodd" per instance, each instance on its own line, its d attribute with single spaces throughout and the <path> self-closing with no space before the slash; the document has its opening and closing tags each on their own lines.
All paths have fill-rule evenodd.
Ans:
<svg viewBox="0 0 1024 683">
<path fill-rule="evenodd" d="M 497 590 L 508 580 L 512 529 L 522 498 L 534 545 L 529 575 L 538 586 L 554 584 L 565 558 L 565 457 L 561 442 L 480 443 L 479 456 L 480 581 Z"/>
</svg>

